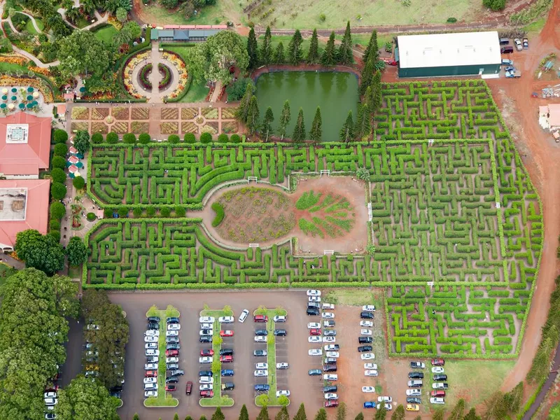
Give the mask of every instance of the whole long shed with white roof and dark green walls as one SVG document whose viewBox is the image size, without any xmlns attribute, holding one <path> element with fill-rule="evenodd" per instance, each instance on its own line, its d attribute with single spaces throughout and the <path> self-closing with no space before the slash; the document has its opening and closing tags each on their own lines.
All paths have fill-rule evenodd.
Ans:
<svg viewBox="0 0 560 420">
<path fill-rule="evenodd" d="M 438 77 L 497 75 L 497 31 L 398 36 L 398 76 Z"/>
</svg>

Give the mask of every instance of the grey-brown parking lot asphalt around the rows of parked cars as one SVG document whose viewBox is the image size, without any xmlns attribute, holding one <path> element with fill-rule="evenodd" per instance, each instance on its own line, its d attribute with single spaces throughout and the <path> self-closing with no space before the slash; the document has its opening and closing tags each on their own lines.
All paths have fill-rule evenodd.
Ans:
<svg viewBox="0 0 560 420">
<path fill-rule="evenodd" d="M 125 387 L 123 390 L 123 407 L 118 410 L 122 419 L 132 419 L 137 412 L 141 419 L 171 419 L 175 412 L 183 419 L 190 415 L 197 419 L 204 414 L 209 418 L 214 408 L 203 408 L 198 404 L 198 372 L 211 370 L 211 365 L 200 365 L 200 350 L 211 348 L 210 344 L 201 344 L 198 340 L 200 324 L 199 313 L 207 304 L 210 309 L 221 309 L 225 304 L 230 305 L 234 311 L 235 323 L 223 324 L 222 329 L 234 330 L 233 337 L 224 337 L 222 348 L 234 349 L 233 363 L 223 363 L 222 369 L 235 370 L 235 376 L 223 378 L 223 381 L 232 381 L 235 389 L 227 391 L 235 400 L 233 407 L 223 408 L 226 416 L 237 416 L 241 405 L 246 404 L 249 415 L 257 416 L 259 409 L 255 406 L 254 384 L 266 383 L 266 378 L 255 378 L 253 371 L 255 363 L 267 362 L 266 358 L 253 356 L 254 349 L 265 349 L 266 343 L 254 342 L 254 330 L 261 324 L 253 323 L 252 316 L 248 316 L 244 323 L 239 323 L 237 318 L 243 309 L 253 313 L 259 305 L 268 308 L 281 306 L 288 311 L 288 321 L 283 327 L 288 330 L 287 337 L 276 339 L 276 363 L 288 362 L 288 370 L 278 370 L 277 387 L 290 390 L 291 416 L 297 412 L 300 403 L 304 402 L 308 416 L 314 416 L 323 405 L 322 377 L 309 377 L 309 369 L 321 368 L 321 357 L 308 356 L 310 348 L 318 348 L 320 344 L 307 342 L 307 322 L 318 322 L 318 317 L 308 317 L 305 314 L 307 296 L 305 292 L 209 292 L 209 293 L 111 293 L 111 301 L 120 304 L 127 313 L 130 323 L 130 341 L 127 345 L 125 361 Z M 181 351 L 179 352 L 179 367 L 185 370 L 178 384 L 178 391 L 174 397 L 179 399 L 179 407 L 174 408 L 146 408 L 144 407 L 144 331 L 146 330 L 146 311 L 151 305 L 165 309 L 172 304 L 181 312 Z M 81 349 L 81 332 L 79 328 L 71 330 L 69 351 Z M 321 344 L 322 346 L 322 344 Z M 165 357 L 165 349 L 160 349 Z M 78 356 L 79 357 L 79 356 Z M 193 393 L 185 393 L 186 382 L 193 381 Z M 279 409 L 270 408 L 269 413 L 274 416 Z"/>
</svg>

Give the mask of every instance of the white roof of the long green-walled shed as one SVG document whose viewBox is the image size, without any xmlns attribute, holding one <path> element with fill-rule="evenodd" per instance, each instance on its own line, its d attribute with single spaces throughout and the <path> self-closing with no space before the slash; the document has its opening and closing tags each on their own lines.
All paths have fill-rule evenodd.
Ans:
<svg viewBox="0 0 560 420">
<path fill-rule="evenodd" d="M 397 42 L 402 69 L 502 62 L 497 31 L 404 35 Z"/>
</svg>

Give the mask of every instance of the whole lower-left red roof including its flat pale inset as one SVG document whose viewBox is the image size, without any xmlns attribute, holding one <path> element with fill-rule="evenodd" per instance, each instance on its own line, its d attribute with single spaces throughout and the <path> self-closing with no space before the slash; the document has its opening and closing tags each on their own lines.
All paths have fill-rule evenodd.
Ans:
<svg viewBox="0 0 560 420">
<path fill-rule="evenodd" d="M 2 194 L 13 196 L 10 193 L 13 190 L 20 191 L 18 203 L 13 201 L 13 197 L 9 197 L 12 200 L 9 203 L 3 200 Z M 47 233 L 49 193 L 48 179 L 0 180 L 0 248 L 13 248 L 15 235 L 22 230 L 35 229 L 43 235 Z M 6 215 L 3 215 L 4 212 Z"/>
</svg>

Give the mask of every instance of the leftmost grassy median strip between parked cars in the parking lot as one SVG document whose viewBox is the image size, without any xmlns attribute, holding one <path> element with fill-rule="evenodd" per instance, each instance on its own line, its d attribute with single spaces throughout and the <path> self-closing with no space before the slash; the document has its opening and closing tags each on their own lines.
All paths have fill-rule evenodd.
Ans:
<svg viewBox="0 0 560 420">
<path fill-rule="evenodd" d="M 160 317 L 160 362 L 158 363 L 158 398 L 146 398 L 146 400 L 144 400 L 144 407 L 177 407 L 179 405 L 179 400 L 177 400 L 177 398 L 173 398 L 171 393 L 165 391 L 165 374 L 167 371 L 167 366 L 165 364 L 165 332 L 167 331 L 166 318 L 168 316 L 179 318 L 180 315 L 179 310 L 175 309 L 171 305 L 169 305 L 165 310 L 161 310 L 158 309 L 158 307 L 153 306 L 148 309 L 148 312 L 146 312 L 146 317 Z"/>
</svg>

